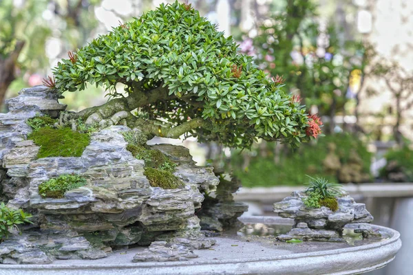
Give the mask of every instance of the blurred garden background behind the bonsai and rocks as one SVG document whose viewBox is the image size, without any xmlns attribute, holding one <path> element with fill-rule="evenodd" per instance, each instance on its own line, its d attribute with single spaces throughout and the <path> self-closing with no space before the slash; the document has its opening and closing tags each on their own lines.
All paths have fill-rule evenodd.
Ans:
<svg viewBox="0 0 413 275">
<path fill-rule="evenodd" d="M 167 2 L 0 0 L 0 102 L 41 85 L 68 51 Z M 250 204 L 248 214 L 271 213 L 272 203 L 303 186 L 306 175 L 343 184 L 368 205 L 375 223 L 402 234 L 401 255 L 374 274 L 407 274 L 413 269 L 413 1 L 189 3 L 268 74 L 282 76 L 286 91 L 319 114 L 325 136 L 297 149 L 257 140 L 251 151 L 191 138 L 166 142 L 189 147 L 200 165 L 236 175 L 244 186 L 237 199 Z M 74 111 L 107 100 L 93 86 L 65 96 L 61 102 Z M 6 112 L 6 104 L 0 109 Z"/>
</svg>

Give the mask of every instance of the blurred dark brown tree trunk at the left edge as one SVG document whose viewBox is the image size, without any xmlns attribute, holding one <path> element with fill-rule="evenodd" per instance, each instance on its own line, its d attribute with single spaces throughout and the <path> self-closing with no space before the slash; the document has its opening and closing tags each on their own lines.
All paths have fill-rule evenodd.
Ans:
<svg viewBox="0 0 413 275">
<path fill-rule="evenodd" d="M 6 56 L 6 58 L 0 57 L 0 106 L 3 104 L 8 87 L 15 79 L 14 67 L 16 66 L 17 58 L 19 58 L 23 46 L 24 41 L 18 41 L 14 50 Z"/>
</svg>

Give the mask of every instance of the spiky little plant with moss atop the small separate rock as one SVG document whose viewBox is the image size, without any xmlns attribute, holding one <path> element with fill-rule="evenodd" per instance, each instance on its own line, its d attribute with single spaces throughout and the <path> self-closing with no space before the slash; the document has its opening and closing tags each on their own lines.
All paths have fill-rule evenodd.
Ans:
<svg viewBox="0 0 413 275">
<path fill-rule="evenodd" d="M 340 184 L 332 184 L 327 179 L 319 177 L 317 179 L 310 178 L 310 183 L 306 189 L 308 195 L 303 199 L 304 205 L 309 208 L 320 208 L 326 206 L 332 211 L 339 209 L 337 197 L 343 194 Z"/>
</svg>

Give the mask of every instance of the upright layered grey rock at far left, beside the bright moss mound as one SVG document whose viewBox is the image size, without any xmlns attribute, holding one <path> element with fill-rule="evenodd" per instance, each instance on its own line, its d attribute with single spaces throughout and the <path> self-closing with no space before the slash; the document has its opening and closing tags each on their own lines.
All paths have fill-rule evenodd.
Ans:
<svg viewBox="0 0 413 275">
<path fill-rule="evenodd" d="M 57 117 L 66 108 L 57 102 L 57 97 L 47 87 L 37 86 L 22 89 L 19 96 L 6 100 L 10 111 L 0 113 L 0 184 L 6 200 L 13 199 L 27 185 L 28 163 L 39 151 L 32 141 L 26 140 L 32 129 L 25 122 L 38 113 Z M 16 198 L 19 204 L 24 204 L 22 196 Z"/>
</svg>

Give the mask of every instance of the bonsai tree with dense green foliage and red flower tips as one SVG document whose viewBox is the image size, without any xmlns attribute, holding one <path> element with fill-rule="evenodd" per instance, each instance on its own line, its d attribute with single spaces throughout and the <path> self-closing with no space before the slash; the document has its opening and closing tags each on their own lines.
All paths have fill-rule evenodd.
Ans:
<svg viewBox="0 0 413 275">
<path fill-rule="evenodd" d="M 237 148 L 257 138 L 299 146 L 317 137 L 319 118 L 283 91 L 282 78 L 268 77 L 215 27 L 191 5 L 162 4 L 69 52 L 45 85 L 59 95 L 100 85 L 109 101 L 63 113 L 60 123 L 123 123 L 148 137 L 187 134 Z"/>
</svg>

